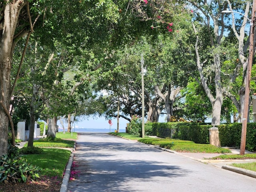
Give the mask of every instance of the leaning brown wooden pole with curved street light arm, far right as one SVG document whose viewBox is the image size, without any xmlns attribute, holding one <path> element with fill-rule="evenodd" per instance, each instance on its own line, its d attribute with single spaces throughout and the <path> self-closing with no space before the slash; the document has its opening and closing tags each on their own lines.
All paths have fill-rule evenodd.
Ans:
<svg viewBox="0 0 256 192">
<path fill-rule="evenodd" d="M 222 13 L 238 13 L 246 17 L 250 21 L 250 46 L 249 46 L 249 56 L 248 56 L 248 65 L 247 65 L 247 76 L 245 81 L 245 92 L 244 92 L 244 110 L 242 117 L 242 133 L 241 133 L 241 143 L 240 143 L 240 155 L 244 155 L 245 152 L 245 144 L 246 144 L 246 129 L 247 129 L 247 121 L 248 121 L 248 106 L 249 106 L 249 97 L 250 97 L 250 80 L 251 80 L 251 72 L 252 72 L 252 62 L 254 56 L 254 46 L 253 46 L 253 38 L 254 38 L 254 17 L 255 17 L 255 9 L 256 9 L 256 0 L 253 0 L 252 3 L 252 19 L 249 19 L 244 14 L 236 11 L 225 10 Z"/>
</svg>

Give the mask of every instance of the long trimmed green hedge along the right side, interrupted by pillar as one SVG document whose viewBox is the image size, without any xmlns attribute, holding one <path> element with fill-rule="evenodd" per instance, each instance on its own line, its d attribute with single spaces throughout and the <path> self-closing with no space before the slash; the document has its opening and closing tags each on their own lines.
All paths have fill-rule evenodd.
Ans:
<svg viewBox="0 0 256 192">
<path fill-rule="evenodd" d="M 140 135 L 141 121 L 135 118 L 129 125 L 127 133 Z M 145 124 L 145 135 L 156 135 L 161 138 L 176 138 L 189 140 L 198 144 L 209 144 L 209 128 L 212 126 L 206 123 L 187 123 L 187 122 L 168 122 Z M 241 142 L 241 123 L 222 124 L 217 126 L 221 146 L 240 147 Z M 256 151 L 256 123 L 247 124 L 246 150 Z"/>
</svg>

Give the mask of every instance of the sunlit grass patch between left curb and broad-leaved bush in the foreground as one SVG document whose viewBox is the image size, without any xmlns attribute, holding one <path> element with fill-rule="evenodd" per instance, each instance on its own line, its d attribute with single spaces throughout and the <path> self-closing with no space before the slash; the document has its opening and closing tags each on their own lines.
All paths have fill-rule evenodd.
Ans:
<svg viewBox="0 0 256 192">
<path fill-rule="evenodd" d="M 41 154 L 25 155 L 27 162 L 41 168 L 40 175 L 62 178 L 70 157 L 70 150 L 43 148 Z"/>
</svg>

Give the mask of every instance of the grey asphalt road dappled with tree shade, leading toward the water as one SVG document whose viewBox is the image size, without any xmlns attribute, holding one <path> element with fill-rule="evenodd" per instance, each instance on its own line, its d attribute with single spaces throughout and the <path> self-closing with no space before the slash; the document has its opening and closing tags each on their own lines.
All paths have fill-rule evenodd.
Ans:
<svg viewBox="0 0 256 192">
<path fill-rule="evenodd" d="M 68 192 L 255 192 L 256 179 L 104 133 L 78 135 Z"/>
</svg>

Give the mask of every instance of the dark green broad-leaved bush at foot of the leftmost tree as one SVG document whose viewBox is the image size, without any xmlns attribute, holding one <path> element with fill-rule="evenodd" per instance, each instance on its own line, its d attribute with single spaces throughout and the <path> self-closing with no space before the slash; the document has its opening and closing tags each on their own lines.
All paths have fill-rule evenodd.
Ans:
<svg viewBox="0 0 256 192">
<path fill-rule="evenodd" d="M 8 146 L 8 153 L 0 157 L 1 182 L 27 182 L 39 178 L 39 168 L 27 163 L 15 146 Z"/>
</svg>

